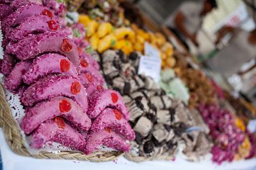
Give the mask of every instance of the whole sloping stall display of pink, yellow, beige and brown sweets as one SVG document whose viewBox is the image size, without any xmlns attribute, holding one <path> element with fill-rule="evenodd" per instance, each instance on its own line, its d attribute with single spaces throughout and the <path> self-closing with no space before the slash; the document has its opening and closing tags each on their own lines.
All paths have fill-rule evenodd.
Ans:
<svg viewBox="0 0 256 170">
<path fill-rule="evenodd" d="M 0 2 L 0 125 L 13 152 L 218 167 L 255 157 L 246 128 L 253 105 L 224 92 L 161 32 L 145 31 L 129 3 Z M 157 68 L 145 74 L 142 59 Z"/>
</svg>

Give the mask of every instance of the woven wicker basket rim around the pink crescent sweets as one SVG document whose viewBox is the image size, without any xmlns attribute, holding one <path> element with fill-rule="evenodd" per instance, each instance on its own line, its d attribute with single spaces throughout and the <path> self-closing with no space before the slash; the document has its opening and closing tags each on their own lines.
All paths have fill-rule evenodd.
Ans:
<svg viewBox="0 0 256 170">
<path fill-rule="evenodd" d="M 38 159 L 70 159 L 70 160 L 86 160 L 90 162 L 107 162 L 115 160 L 122 152 L 94 152 L 90 155 L 84 155 L 82 152 L 59 152 L 49 153 L 40 152 L 37 155 L 31 155 L 22 144 L 19 126 L 12 117 L 10 106 L 6 102 L 3 85 L 0 83 L 0 127 L 3 129 L 4 137 L 13 152 Z"/>
</svg>

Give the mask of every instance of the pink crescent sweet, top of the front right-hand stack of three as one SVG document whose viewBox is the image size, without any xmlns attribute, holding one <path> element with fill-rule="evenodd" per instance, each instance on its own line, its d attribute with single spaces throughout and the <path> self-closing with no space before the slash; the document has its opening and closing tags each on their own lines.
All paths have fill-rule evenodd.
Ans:
<svg viewBox="0 0 256 170">
<path fill-rule="evenodd" d="M 125 120 L 129 120 L 130 113 L 124 104 L 122 96 L 115 90 L 95 91 L 89 98 L 87 115 L 90 118 L 96 118 L 107 107 L 119 110 Z"/>
</svg>

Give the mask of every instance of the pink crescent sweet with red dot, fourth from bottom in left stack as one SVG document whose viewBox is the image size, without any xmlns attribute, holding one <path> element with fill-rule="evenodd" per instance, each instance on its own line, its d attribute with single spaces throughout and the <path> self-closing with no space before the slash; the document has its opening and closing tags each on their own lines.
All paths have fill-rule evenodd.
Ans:
<svg viewBox="0 0 256 170">
<path fill-rule="evenodd" d="M 58 53 L 47 53 L 36 57 L 23 75 L 24 83 L 31 84 L 47 74 L 60 73 L 78 78 L 76 68 L 67 57 Z"/>
</svg>

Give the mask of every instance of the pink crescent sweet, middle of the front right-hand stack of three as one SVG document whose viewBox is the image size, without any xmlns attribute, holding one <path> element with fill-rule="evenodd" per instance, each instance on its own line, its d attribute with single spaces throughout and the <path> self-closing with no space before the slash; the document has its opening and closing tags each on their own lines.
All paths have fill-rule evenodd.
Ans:
<svg viewBox="0 0 256 170">
<path fill-rule="evenodd" d="M 106 127 L 121 134 L 130 141 L 135 139 L 131 125 L 125 120 L 118 110 L 106 108 L 93 120 L 91 131 L 98 132 Z"/>
</svg>

